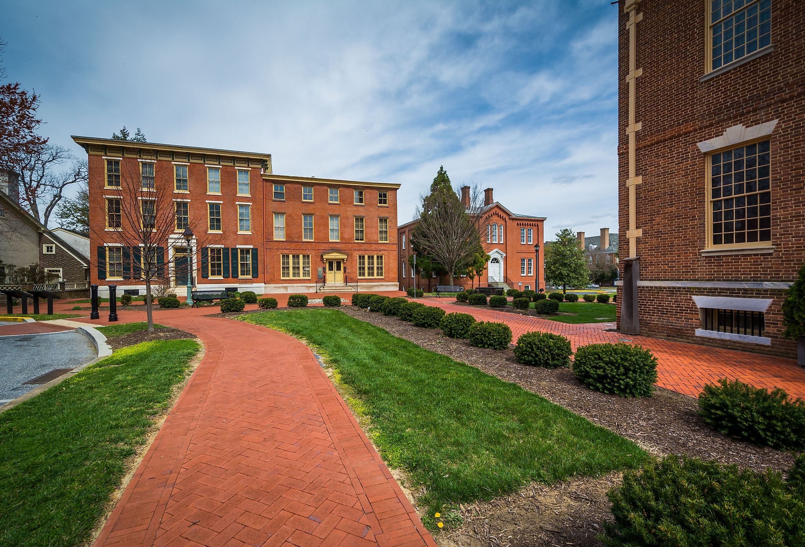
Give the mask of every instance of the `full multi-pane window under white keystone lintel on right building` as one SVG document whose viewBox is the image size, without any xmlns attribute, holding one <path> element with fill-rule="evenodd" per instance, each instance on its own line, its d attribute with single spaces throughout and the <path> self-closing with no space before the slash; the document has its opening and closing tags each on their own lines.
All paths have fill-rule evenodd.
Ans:
<svg viewBox="0 0 805 547">
<path fill-rule="evenodd" d="M 712 245 L 771 241 L 769 141 L 710 155 Z"/>
</svg>

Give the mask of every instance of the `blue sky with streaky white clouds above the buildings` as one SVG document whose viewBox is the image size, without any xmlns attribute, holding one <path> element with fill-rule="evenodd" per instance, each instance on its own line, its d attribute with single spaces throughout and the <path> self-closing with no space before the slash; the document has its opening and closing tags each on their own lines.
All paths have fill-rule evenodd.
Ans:
<svg viewBox="0 0 805 547">
<path fill-rule="evenodd" d="M 617 232 L 617 6 L 3 2 L 42 133 L 268 152 L 274 172 L 400 183 L 444 165 L 514 212 Z"/>
</svg>

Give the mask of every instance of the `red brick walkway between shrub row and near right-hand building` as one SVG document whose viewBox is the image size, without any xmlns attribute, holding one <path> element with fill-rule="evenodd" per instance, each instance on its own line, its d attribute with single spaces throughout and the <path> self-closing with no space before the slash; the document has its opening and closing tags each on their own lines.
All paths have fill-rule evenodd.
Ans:
<svg viewBox="0 0 805 547">
<path fill-rule="evenodd" d="M 805 398 L 805 369 L 795 360 L 766 356 L 758 353 L 708 348 L 694 343 L 672 342 L 647 336 L 621 335 L 605 331 L 604 323 L 572 325 L 528 315 L 511 314 L 489 308 L 451 304 L 454 299 L 419 300 L 431 306 L 444 308 L 448 313 L 469 313 L 482 321 L 499 321 L 511 327 L 514 342 L 526 332 L 553 332 L 567 336 L 575 350 L 588 343 L 627 340 L 649 349 L 659 361 L 657 385 L 696 397 L 706 384 L 720 378 L 741 380 L 761 388 L 782 388 L 794 397 Z M 604 304 L 601 304 L 604 306 Z"/>
</svg>

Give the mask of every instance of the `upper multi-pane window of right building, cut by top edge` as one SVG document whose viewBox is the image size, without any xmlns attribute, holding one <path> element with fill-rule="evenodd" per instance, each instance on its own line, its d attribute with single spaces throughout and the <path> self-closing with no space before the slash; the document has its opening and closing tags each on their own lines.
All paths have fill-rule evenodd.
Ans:
<svg viewBox="0 0 805 547">
<path fill-rule="evenodd" d="M 771 43 L 771 0 L 710 2 L 711 70 Z"/>
</svg>

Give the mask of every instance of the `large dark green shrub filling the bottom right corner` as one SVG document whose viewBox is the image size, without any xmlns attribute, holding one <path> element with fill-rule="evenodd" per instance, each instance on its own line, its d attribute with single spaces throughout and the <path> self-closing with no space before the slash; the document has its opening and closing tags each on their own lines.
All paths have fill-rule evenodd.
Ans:
<svg viewBox="0 0 805 547">
<path fill-rule="evenodd" d="M 793 470 L 793 468 L 792 468 Z M 805 497 L 776 472 L 695 458 L 652 459 L 609 491 L 606 545 L 802 545 Z"/>
</svg>

